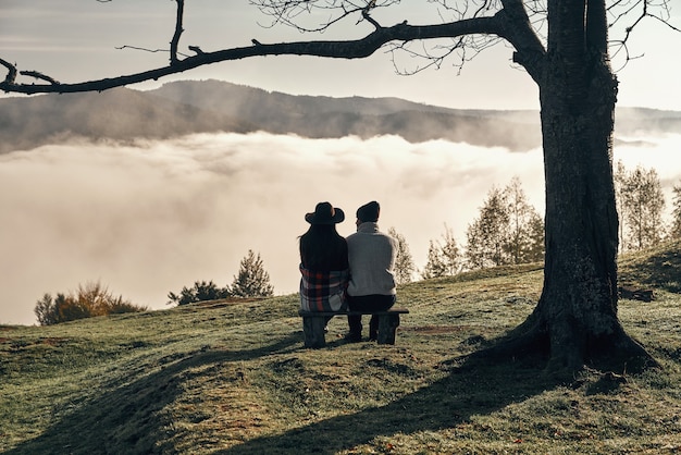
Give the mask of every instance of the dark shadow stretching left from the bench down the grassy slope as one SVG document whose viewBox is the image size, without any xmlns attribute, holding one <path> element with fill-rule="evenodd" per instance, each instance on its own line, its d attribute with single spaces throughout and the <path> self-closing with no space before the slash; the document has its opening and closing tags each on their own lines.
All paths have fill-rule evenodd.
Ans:
<svg viewBox="0 0 681 455">
<path fill-rule="evenodd" d="M 277 340 L 276 343 L 255 349 L 222 351 L 203 348 L 162 357 L 151 368 L 153 372 L 128 372 L 127 377 L 110 380 L 110 391 L 94 394 L 89 403 L 69 403 L 75 410 L 62 417 L 39 436 L 13 450 L 18 454 L 157 454 L 175 453 L 163 446 L 168 427 L 173 422 L 162 410 L 183 392 L 187 371 L 194 368 L 245 361 L 285 351 L 302 342 L 300 333 Z M 134 378 L 131 378 L 135 374 Z M 129 381 L 129 382 L 127 382 Z M 63 410 L 62 410 L 63 411 Z M 172 430 L 170 430 L 172 432 Z"/>
</svg>

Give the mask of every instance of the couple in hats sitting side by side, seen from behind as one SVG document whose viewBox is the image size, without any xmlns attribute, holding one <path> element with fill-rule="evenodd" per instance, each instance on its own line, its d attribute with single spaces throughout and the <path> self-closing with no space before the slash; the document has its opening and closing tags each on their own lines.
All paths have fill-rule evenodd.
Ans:
<svg viewBox="0 0 681 455">
<path fill-rule="evenodd" d="M 345 213 L 329 202 L 307 213 L 308 231 L 300 236 L 301 311 L 385 311 L 395 304 L 396 241 L 379 231 L 379 202 L 357 210 L 357 232 L 344 238 L 336 224 Z M 326 322 L 333 316 L 327 317 Z M 348 315 L 346 340 L 362 339 L 361 315 Z M 379 318 L 369 322 L 369 340 L 379 336 Z"/>
</svg>

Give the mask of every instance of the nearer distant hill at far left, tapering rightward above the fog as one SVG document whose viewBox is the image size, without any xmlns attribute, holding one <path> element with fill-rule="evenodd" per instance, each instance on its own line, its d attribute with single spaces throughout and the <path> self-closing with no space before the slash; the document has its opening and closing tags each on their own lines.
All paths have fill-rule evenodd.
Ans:
<svg viewBox="0 0 681 455">
<path fill-rule="evenodd" d="M 0 152 L 74 137 L 162 139 L 198 132 L 253 130 L 255 125 L 220 112 L 128 88 L 0 100 Z"/>
</svg>

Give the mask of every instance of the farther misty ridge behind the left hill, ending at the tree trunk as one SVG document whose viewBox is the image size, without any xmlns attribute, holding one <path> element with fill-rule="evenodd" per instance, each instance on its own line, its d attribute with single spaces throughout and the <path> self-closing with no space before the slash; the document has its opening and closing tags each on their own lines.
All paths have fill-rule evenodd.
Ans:
<svg viewBox="0 0 681 455">
<path fill-rule="evenodd" d="M 398 98 L 294 96 L 219 81 L 173 82 L 150 94 L 237 116 L 271 133 L 312 138 L 394 134 L 412 143 L 447 139 L 513 150 L 541 144 L 535 111 L 447 109 Z"/>
</svg>

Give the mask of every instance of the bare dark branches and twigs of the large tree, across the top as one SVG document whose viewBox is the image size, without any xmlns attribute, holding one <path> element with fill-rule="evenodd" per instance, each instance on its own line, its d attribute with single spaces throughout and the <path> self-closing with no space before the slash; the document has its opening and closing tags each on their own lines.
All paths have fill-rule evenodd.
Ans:
<svg viewBox="0 0 681 455">
<path fill-rule="evenodd" d="M 110 2 L 111 0 L 97 0 Z M 537 82 L 542 77 L 545 57 L 545 34 L 541 32 L 546 26 L 547 0 L 429 0 L 438 8 L 442 24 L 410 25 L 407 21 L 393 26 L 384 26 L 376 17 L 382 9 L 396 7 L 400 0 L 249 0 L 261 12 L 272 19 L 271 24 L 283 24 L 295 27 L 299 32 L 325 32 L 332 25 L 344 20 L 357 19 L 357 24 L 370 24 L 372 32 L 356 40 L 310 40 L 298 42 L 262 44 L 252 39 L 249 47 L 223 49 L 206 52 L 198 46 L 188 46 L 194 54 L 179 52 L 179 40 L 183 28 L 185 0 L 174 0 L 177 12 L 174 34 L 170 42 L 170 63 L 168 66 L 151 69 L 129 75 L 112 78 L 102 78 L 82 83 L 58 83 L 52 77 L 37 72 L 17 72 L 15 64 L 0 60 L 0 64 L 8 69 L 0 90 L 23 94 L 38 93 L 72 93 L 88 90 L 104 90 L 108 88 L 137 84 L 145 81 L 156 81 L 161 77 L 178 74 L 206 64 L 230 60 L 239 60 L 258 56 L 315 56 L 338 59 L 360 59 L 374 53 L 385 45 L 393 53 L 393 64 L 399 74 L 413 74 L 426 67 L 441 67 L 445 59 L 456 54 L 458 63 L 455 67 L 460 71 L 467 61 L 470 61 L 482 50 L 496 45 L 499 40 L 507 40 L 513 48 L 513 61 L 523 66 Z M 624 17 L 634 15 L 633 22 L 624 27 L 623 38 L 610 40 L 609 46 L 614 56 L 624 52 L 624 65 L 632 57 L 629 54 L 628 40 L 633 29 L 644 20 L 652 19 L 663 22 L 677 30 L 669 23 L 671 0 L 611 0 L 607 8 L 610 27 L 624 21 Z M 594 3 L 595 4 L 595 3 Z M 449 15 L 451 17 L 445 17 Z M 317 25 L 309 25 L 314 21 Z M 308 25 L 306 25 L 306 23 Z M 604 33 L 598 32 L 599 42 Z M 595 28 L 591 28 L 595 30 Z M 450 41 L 436 44 L 428 49 L 423 46 L 418 49 L 416 41 L 433 38 L 446 38 Z M 590 39 L 596 39 L 594 35 Z M 421 42 L 422 44 L 422 42 Z M 135 46 L 122 46 L 117 49 L 136 49 L 147 52 L 168 51 L 164 49 L 145 49 Z M 395 52 L 405 53 L 414 59 L 423 59 L 426 64 L 418 65 L 414 70 L 406 71 L 397 66 Z M 28 75 L 49 84 L 16 83 L 17 75 Z"/>
</svg>

